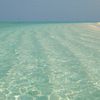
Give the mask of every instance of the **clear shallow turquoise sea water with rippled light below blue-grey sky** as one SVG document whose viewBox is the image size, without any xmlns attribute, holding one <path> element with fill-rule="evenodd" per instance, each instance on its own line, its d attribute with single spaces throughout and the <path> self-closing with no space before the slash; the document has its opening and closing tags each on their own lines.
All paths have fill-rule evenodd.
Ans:
<svg viewBox="0 0 100 100">
<path fill-rule="evenodd" d="M 0 100 L 100 100 L 93 25 L 0 23 Z"/>
</svg>

